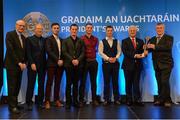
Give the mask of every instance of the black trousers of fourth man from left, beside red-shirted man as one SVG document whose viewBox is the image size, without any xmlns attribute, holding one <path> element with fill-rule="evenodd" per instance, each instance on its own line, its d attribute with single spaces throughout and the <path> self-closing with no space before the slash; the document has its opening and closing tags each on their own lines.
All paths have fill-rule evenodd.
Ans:
<svg viewBox="0 0 180 120">
<path fill-rule="evenodd" d="M 65 67 L 66 71 L 66 104 L 71 104 L 71 86 L 73 85 L 72 96 L 73 103 L 78 102 L 78 82 L 80 79 L 82 68 L 77 67 Z"/>
</svg>

